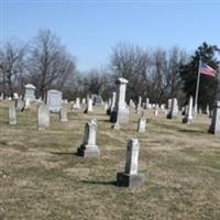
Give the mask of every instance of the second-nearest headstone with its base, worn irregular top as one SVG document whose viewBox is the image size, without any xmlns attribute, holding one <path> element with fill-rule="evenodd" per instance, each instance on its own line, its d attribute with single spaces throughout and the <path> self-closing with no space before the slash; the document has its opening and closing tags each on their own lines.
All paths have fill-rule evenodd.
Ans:
<svg viewBox="0 0 220 220">
<path fill-rule="evenodd" d="M 97 122 L 91 120 L 85 125 L 84 143 L 78 148 L 78 155 L 84 157 L 99 157 L 100 151 L 96 144 Z"/>
</svg>

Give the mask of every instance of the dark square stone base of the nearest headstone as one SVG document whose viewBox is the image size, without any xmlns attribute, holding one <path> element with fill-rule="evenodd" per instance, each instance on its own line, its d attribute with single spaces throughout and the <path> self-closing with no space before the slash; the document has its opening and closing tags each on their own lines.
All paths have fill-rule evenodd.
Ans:
<svg viewBox="0 0 220 220">
<path fill-rule="evenodd" d="M 123 187 L 138 187 L 143 183 L 143 176 L 141 175 L 129 175 L 125 173 L 117 174 L 117 185 Z"/>
</svg>

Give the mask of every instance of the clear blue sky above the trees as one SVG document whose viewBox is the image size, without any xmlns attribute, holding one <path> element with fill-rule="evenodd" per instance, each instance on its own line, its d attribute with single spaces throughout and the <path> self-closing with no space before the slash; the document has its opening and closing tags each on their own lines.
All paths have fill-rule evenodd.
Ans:
<svg viewBox="0 0 220 220">
<path fill-rule="evenodd" d="M 112 46 L 220 46 L 220 1 L 0 0 L 0 40 L 31 40 L 50 28 L 77 57 L 79 70 L 108 63 Z M 191 3 L 193 2 L 193 3 Z"/>
</svg>

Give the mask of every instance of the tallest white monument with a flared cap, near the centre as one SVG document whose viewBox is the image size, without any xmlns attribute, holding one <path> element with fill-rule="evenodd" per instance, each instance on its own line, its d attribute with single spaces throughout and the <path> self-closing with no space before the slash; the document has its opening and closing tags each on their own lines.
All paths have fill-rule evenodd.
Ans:
<svg viewBox="0 0 220 220">
<path fill-rule="evenodd" d="M 129 122 L 129 108 L 125 102 L 125 90 L 128 80 L 124 78 L 119 78 L 116 81 L 118 86 L 116 106 L 111 112 L 110 121 L 118 122 L 120 125 L 127 124 Z"/>
</svg>

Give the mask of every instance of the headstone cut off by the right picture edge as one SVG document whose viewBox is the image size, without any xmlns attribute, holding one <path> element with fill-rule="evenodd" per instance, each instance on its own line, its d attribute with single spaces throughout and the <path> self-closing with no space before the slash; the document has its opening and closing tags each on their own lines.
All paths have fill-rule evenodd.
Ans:
<svg viewBox="0 0 220 220">
<path fill-rule="evenodd" d="M 215 105 L 209 133 L 220 135 L 220 101 Z"/>
</svg>

